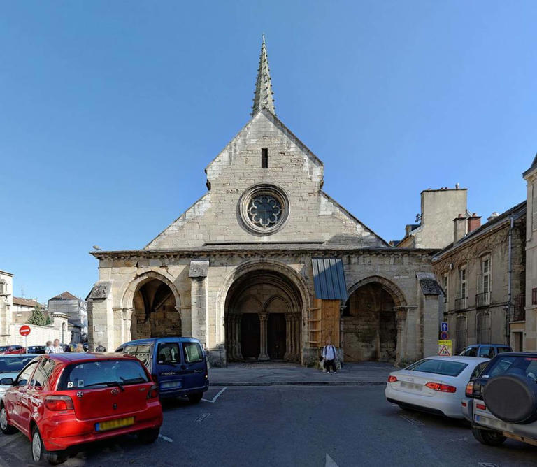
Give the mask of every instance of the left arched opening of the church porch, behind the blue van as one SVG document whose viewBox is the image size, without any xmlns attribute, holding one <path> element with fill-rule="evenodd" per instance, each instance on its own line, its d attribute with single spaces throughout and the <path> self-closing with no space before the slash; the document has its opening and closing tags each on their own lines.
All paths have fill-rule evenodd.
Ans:
<svg viewBox="0 0 537 467">
<path fill-rule="evenodd" d="M 131 337 L 181 336 L 181 318 L 176 297 L 166 282 L 148 278 L 134 292 Z"/>
</svg>

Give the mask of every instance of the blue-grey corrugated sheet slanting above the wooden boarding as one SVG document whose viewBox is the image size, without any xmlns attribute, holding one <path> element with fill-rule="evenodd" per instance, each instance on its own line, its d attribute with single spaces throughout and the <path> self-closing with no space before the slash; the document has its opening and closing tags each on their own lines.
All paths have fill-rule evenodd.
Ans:
<svg viewBox="0 0 537 467">
<path fill-rule="evenodd" d="M 347 300 L 343 261 L 339 258 L 312 258 L 315 297 L 323 300 Z"/>
</svg>

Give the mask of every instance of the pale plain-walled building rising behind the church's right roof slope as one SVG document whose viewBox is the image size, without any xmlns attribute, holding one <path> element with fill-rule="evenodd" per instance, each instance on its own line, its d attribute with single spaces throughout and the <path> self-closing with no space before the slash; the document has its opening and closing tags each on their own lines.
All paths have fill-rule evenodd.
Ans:
<svg viewBox="0 0 537 467">
<path fill-rule="evenodd" d="M 405 227 L 405 236 L 392 245 L 406 248 L 443 248 L 452 243 L 453 218 L 459 213 L 470 215 L 466 208 L 466 188 L 424 189 L 421 210 L 415 224 Z"/>
</svg>

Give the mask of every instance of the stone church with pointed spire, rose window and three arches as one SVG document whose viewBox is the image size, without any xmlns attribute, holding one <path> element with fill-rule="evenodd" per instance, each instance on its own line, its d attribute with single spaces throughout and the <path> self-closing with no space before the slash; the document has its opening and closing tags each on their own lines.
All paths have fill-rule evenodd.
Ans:
<svg viewBox="0 0 537 467">
<path fill-rule="evenodd" d="M 208 191 L 141 250 L 96 251 L 90 347 L 194 336 L 211 364 L 312 365 L 437 351 L 434 250 L 396 248 L 322 191 L 324 165 L 278 117 L 263 41 L 251 118 Z"/>
</svg>

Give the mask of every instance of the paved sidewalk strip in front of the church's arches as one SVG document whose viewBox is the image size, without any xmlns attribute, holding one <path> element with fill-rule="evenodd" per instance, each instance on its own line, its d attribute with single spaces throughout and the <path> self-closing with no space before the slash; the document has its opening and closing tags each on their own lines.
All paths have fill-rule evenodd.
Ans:
<svg viewBox="0 0 537 467">
<path fill-rule="evenodd" d="M 392 364 L 371 361 L 345 364 L 335 375 L 299 364 L 237 363 L 226 368 L 210 368 L 209 380 L 211 386 L 367 386 L 385 385 L 389 372 L 394 370 Z"/>
</svg>

